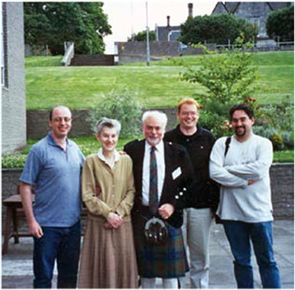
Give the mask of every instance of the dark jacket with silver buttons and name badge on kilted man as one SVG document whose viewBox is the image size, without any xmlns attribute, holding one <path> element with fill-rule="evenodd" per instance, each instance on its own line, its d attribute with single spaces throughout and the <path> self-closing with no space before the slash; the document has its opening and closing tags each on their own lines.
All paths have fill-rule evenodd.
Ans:
<svg viewBox="0 0 295 290">
<path fill-rule="evenodd" d="M 142 167 L 144 163 L 144 140 L 135 140 L 124 146 L 124 151 L 130 155 L 133 161 L 133 174 L 135 177 L 135 203 L 132 214 L 141 212 L 142 208 Z M 165 180 L 160 198 L 160 205 L 170 203 L 174 205 L 175 212 L 167 220 L 174 228 L 179 228 L 183 223 L 182 209 L 188 207 L 188 191 L 193 184 L 193 167 L 184 146 L 164 142 L 165 154 Z M 173 179 L 172 172 L 181 168 L 179 177 Z M 159 205 L 159 207 L 160 207 Z"/>
</svg>

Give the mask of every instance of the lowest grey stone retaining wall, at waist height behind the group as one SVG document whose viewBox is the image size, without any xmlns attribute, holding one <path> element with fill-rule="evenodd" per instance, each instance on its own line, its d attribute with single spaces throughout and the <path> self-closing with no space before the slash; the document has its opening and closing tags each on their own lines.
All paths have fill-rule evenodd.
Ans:
<svg viewBox="0 0 295 290">
<path fill-rule="evenodd" d="M 2 200 L 16 193 L 22 169 L 2 170 Z M 294 163 L 275 163 L 270 167 L 273 214 L 276 219 L 294 219 Z M 2 230 L 6 209 L 2 207 Z M 22 221 L 22 231 L 25 221 Z"/>
</svg>

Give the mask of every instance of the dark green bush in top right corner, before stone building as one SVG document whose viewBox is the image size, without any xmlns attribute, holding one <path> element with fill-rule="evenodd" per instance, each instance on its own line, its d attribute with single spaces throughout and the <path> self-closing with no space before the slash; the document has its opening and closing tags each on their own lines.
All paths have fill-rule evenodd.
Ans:
<svg viewBox="0 0 295 290">
<path fill-rule="evenodd" d="M 279 36 L 280 41 L 294 41 L 294 4 L 270 13 L 266 32 L 273 39 Z"/>
</svg>

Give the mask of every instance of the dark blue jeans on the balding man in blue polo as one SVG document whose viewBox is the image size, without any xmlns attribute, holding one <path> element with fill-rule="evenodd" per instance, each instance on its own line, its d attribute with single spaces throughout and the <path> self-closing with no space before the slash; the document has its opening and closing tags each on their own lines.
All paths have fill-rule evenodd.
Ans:
<svg viewBox="0 0 295 290">
<path fill-rule="evenodd" d="M 76 288 L 80 256 L 81 223 L 68 228 L 42 227 L 43 237 L 34 237 L 34 288 L 51 288 L 55 258 L 57 288 Z"/>
</svg>

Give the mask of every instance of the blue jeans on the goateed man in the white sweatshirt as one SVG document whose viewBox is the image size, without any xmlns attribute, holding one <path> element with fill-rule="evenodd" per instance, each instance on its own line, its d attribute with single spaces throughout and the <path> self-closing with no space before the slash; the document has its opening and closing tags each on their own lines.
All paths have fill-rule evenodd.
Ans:
<svg viewBox="0 0 295 290">
<path fill-rule="evenodd" d="M 273 257 L 272 221 L 224 221 L 224 230 L 235 258 L 233 263 L 238 288 L 254 288 L 250 240 L 259 265 L 263 288 L 280 288 L 280 270 Z"/>
</svg>

